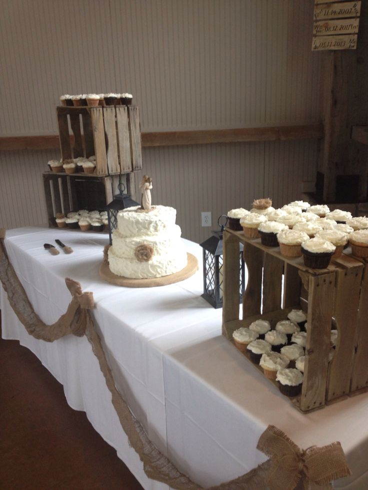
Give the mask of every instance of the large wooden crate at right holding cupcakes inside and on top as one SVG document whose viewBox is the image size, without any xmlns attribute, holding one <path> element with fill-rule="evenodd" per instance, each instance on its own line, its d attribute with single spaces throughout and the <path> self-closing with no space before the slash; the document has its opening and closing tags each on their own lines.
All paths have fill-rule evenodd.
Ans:
<svg viewBox="0 0 368 490">
<path fill-rule="evenodd" d="M 248 327 L 262 318 L 274 328 L 279 320 L 287 318 L 292 308 L 302 308 L 307 311 L 307 323 L 311 327 L 307 329 L 301 395 L 290 399 L 292 404 L 302 412 L 310 412 L 365 389 L 368 386 L 366 263 L 343 254 L 331 261 L 327 269 L 309 269 L 302 257 L 283 257 L 279 247 L 265 247 L 260 239 L 245 238 L 242 232 L 226 229 L 223 242 L 222 334 L 232 342 L 232 332 L 239 327 Z M 242 320 L 239 320 L 237 303 L 239 243 L 244 246 L 248 269 Z M 338 339 L 334 357 L 328 362 L 332 324 L 338 331 Z M 253 366 L 262 371 L 259 366 Z"/>
</svg>

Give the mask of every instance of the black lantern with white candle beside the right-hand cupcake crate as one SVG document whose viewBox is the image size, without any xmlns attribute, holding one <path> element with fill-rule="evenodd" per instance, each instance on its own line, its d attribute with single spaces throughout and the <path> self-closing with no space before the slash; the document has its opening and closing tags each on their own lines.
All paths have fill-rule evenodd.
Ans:
<svg viewBox="0 0 368 490">
<path fill-rule="evenodd" d="M 220 224 L 221 218 L 225 221 Z M 213 235 L 200 246 L 203 248 L 203 294 L 201 295 L 213 308 L 222 307 L 222 282 L 223 282 L 223 257 L 222 257 L 222 233 L 227 223 L 227 217 L 222 215 L 217 220 L 220 230 L 213 231 Z M 240 243 L 239 256 L 239 303 L 245 289 L 245 265 L 243 259 L 243 245 Z"/>
</svg>

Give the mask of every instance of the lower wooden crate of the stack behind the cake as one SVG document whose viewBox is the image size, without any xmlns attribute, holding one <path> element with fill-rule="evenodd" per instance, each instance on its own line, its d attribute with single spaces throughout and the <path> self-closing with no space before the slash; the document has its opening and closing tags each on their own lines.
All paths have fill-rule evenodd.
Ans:
<svg viewBox="0 0 368 490">
<path fill-rule="evenodd" d="M 64 213 L 66 216 L 79 209 L 102 211 L 113 195 L 118 193 L 119 175 L 99 177 L 44 172 L 42 176 L 50 227 L 57 226 L 56 213 Z"/>
</svg>

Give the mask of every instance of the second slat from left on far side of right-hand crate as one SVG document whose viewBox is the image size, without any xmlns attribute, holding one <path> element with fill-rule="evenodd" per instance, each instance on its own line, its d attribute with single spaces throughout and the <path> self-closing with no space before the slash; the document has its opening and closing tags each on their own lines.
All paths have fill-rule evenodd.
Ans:
<svg viewBox="0 0 368 490">
<path fill-rule="evenodd" d="M 283 261 L 264 254 L 262 313 L 281 308 Z"/>
</svg>

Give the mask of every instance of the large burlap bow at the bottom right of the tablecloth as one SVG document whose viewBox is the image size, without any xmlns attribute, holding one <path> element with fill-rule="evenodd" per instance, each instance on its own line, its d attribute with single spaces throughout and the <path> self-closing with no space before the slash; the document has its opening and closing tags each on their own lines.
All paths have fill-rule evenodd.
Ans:
<svg viewBox="0 0 368 490">
<path fill-rule="evenodd" d="M 300 451 L 282 431 L 268 426 L 257 449 L 272 461 L 266 477 L 270 490 L 292 490 L 298 484 L 305 490 L 325 490 L 332 480 L 351 475 L 339 442 Z"/>
</svg>

